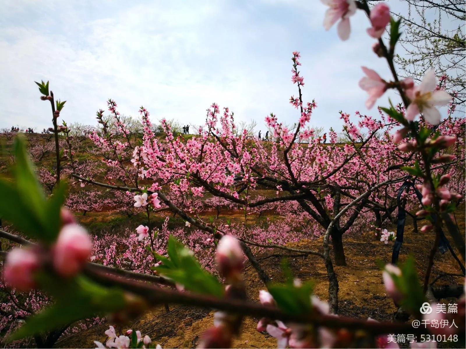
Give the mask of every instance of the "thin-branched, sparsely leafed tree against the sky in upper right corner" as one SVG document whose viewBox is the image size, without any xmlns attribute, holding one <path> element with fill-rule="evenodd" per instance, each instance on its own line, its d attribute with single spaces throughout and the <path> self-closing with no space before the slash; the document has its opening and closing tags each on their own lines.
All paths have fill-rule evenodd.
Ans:
<svg viewBox="0 0 466 349">
<path fill-rule="evenodd" d="M 378 2 L 378 1 L 371 1 Z M 406 51 L 398 52 L 395 62 L 405 77 L 421 81 L 425 72 L 435 69 L 445 75 L 443 86 L 454 96 L 452 107 L 465 109 L 465 1 L 404 0 L 407 11 L 393 13 L 402 19 L 399 42 Z"/>
</svg>

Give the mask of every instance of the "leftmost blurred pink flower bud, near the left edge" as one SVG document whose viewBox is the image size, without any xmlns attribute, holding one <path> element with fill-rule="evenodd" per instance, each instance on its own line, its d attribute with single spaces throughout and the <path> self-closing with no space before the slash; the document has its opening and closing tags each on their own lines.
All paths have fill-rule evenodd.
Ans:
<svg viewBox="0 0 466 349">
<path fill-rule="evenodd" d="M 7 254 L 3 277 L 11 287 L 28 291 L 35 287 L 34 271 L 39 268 L 37 253 L 29 248 L 14 248 Z"/>
</svg>

